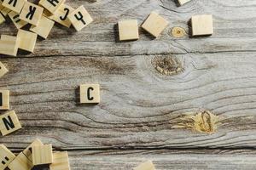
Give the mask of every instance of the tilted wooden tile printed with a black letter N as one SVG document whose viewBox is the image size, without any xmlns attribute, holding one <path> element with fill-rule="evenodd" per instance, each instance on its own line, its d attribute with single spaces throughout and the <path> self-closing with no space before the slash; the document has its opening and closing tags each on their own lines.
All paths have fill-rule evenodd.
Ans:
<svg viewBox="0 0 256 170">
<path fill-rule="evenodd" d="M 0 116 L 0 131 L 3 136 L 13 133 L 20 128 L 21 125 L 15 111 L 9 111 Z"/>
</svg>

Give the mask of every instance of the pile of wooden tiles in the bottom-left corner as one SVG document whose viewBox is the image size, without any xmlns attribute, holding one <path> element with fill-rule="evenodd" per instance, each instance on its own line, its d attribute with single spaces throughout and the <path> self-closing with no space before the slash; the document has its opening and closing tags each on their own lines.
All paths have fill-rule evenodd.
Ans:
<svg viewBox="0 0 256 170">
<path fill-rule="evenodd" d="M 49 170 L 69 170 L 67 151 L 53 152 L 51 144 L 36 139 L 25 150 L 15 156 L 0 144 L 0 170 L 31 170 L 35 166 L 49 165 Z"/>
</svg>

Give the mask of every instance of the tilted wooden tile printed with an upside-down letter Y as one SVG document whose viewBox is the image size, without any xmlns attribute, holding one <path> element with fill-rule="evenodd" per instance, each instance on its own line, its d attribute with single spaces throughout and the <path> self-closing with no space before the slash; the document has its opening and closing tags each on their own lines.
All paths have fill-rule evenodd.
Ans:
<svg viewBox="0 0 256 170">
<path fill-rule="evenodd" d="M 93 21 L 83 5 L 68 14 L 67 18 L 71 21 L 76 31 L 81 31 Z"/>
</svg>

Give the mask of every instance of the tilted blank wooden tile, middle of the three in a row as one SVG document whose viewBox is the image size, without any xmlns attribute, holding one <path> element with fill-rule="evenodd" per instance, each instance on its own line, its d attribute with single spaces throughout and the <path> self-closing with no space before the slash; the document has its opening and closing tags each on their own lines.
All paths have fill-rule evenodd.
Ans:
<svg viewBox="0 0 256 170">
<path fill-rule="evenodd" d="M 158 37 L 162 31 L 165 30 L 169 22 L 161 17 L 159 14 L 152 12 L 148 19 L 143 23 L 143 29 L 148 31 L 152 36 Z"/>
</svg>

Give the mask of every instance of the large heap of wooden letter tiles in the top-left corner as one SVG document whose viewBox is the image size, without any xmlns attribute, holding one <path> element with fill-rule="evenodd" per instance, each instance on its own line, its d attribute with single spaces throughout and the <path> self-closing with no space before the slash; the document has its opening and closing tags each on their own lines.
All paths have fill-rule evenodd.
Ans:
<svg viewBox="0 0 256 170">
<path fill-rule="evenodd" d="M 9 16 L 18 29 L 17 36 L 2 35 L 0 54 L 16 56 L 18 49 L 33 52 L 37 37 L 46 39 L 55 22 L 62 26 L 73 27 L 80 31 L 93 20 L 84 8 L 72 8 L 65 0 L 40 0 L 39 4 L 26 0 L 0 0 L 0 24 Z M 28 30 L 21 28 L 30 24 Z"/>
</svg>

